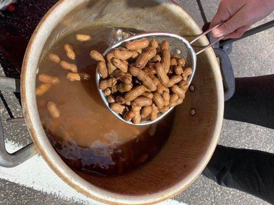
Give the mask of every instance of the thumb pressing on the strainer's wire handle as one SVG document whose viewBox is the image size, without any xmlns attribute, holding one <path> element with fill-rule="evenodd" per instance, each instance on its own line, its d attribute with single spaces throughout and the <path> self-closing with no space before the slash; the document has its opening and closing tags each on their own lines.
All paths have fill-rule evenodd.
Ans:
<svg viewBox="0 0 274 205">
<path fill-rule="evenodd" d="M 242 15 L 242 12 L 237 12 L 234 16 L 232 16 L 230 19 L 228 19 L 224 24 L 222 24 L 220 27 L 213 29 L 212 34 L 215 37 L 221 37 L 223 35 L 228 35 L 232 32 L 234 32 L 236 29 L 246 26 L 244 16 Z"/>
</svg>

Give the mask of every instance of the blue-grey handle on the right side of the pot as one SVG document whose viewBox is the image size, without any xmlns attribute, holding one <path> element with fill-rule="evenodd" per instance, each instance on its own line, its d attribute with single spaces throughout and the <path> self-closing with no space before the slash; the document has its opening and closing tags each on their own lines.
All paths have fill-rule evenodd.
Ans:
<svg viewBox="0 0 274 205">
<path fill-rule="evenodd" d="M 220 59 L 221 74 L 225 92 L 225 101 L 229 100 L 235 92 L 235 77 L 231 61 L 227 53 L 221 48 L 214 48 L 215 55 Z"/>
</svg>

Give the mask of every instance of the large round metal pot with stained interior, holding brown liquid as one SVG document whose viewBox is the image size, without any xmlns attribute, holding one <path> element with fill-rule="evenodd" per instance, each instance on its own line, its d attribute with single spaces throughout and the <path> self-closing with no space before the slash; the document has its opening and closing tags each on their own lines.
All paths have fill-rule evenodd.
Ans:
<svg viewBox="0 0 274 205">
<path fill-rule="evenodd" d="M 76 173 L 54 151 L 41 124 L 35 97 L 36 69 L 46 51 L 64 34 L 79 27 L 102 24 L 144 31 L 167 31 L 184 36 L 202 32 L 194 20 L 173 1 L 58 2 L 34 31 L 22 68 L 22 106 L 34 145 L 9 154 L 5 150 L 2 136 L 0 165 L 16 166 L 39 152 L 50 168 L 69 186 L 95 200 L 110 204 L 147 204 L 166 200 L 186 189 L 199 176 L 210 160 L 220 136 L 224 89 L 216 56 L 211 48 L 198 55 L 192 87 L 194 91 L 188 91 L 184 104 L 177 107 L 172 134 L 166 146 L 148 165 L 115 177 Z M 208 40 L 203 37 L 196 46 L 206 44 Z M 6 89 L 12 90 L 9 86 L 15 86 L 17 81 L 5 80 Z"/>
</svg>

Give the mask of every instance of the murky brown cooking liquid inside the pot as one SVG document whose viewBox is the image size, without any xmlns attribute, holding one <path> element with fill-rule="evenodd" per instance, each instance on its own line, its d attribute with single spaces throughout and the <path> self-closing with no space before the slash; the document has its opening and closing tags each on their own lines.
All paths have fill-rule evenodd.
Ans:
<svg viewBox="0 0 274 205">
<path fill-rule="evenodd" d="M 77 41 L 75 35 L 79 33 L 92 36 L 92 40 Z M 165 145 L 174 117 L 171 113 L 156 124 L 137 127 L 125 124 L 107 110 L 96 87 L 97 63 L 89 52 L 103 52 L 112 40 L 113 30 L 109 27 L 84 28 L 66 35 L 49 50 L 61 60 L 76 64 L 78 72 L 88 73 L 90 80 L 69 81 L 69 71 L 50 61 L 47 55 L 41 60 L 38 73 L 61 80 L 46 94 L 37 96 L 40 118 L 52 146 L 72 169 L 100 175 L 130 172 L 151 160 Z M 66 56 L 64 44 L 74 48 L 75 60 Z M 36 79 L 36 87 L 40 84 Z M 50 116 L 48 101 L 59 108 L 58 119 Z"/>
</svg>

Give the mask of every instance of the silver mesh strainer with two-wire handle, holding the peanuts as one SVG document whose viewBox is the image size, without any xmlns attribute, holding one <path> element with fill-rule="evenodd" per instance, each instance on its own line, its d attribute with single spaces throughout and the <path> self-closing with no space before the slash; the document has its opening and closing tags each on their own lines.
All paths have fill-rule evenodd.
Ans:
<svg viewBox="0 0 274 205">
<path fill-rule="evenodd" d="M 113 46 L 109 47 L 104 53 L 103 55 L 106 56 L 106 54 L 115 49 L 115 48 L 119 48 L 119 47 L 125 47 L 125 43 L 127 42 L 132 42 L 133 40 L 138 40 L 138 39 L 142 39 L 142 38 L 147 38 L 150 40 L 150 42 L 152 41 L 152 39 L 154 38 L 156 40 L 156 42 L 158 42 L 159 44 L 161 44 L 162 42 L 164 42 L 165 40 L 167 40 L 169 42 L 169 51 L 171 53 L 171 55 L 178 55 L 179 57 L 183 58 L 186 60 L 186 66 L 187 67 L 191 67 L 193 72 L 192 74 L 189 76 L 188 79 L 188 83 L 189 85 L 192 82 L 192 79 L 194 77 L 195 74 L 195 70 L 196 70 L 196 55 L 198 55 L 199 53 L 202 53 L 203 51 L 205 51 L 206 49 L 208 49 L 209 47 L 213 46 L 215 43 L 219 42 L 221 39 L 223 39 L 226 36 L 222 36 L 218 39 L 215 40 L 215 42 L 205 46 L 204 48 L 202 48 L 201 50 L 199 50 L 198 52 L 195 52 L 194 49 L 192 48 L 192 44 L 194 42 L 196 42 L 200 37 L 206 35 L 207 33 L 209 33 L 211 30 L 221 26 L 223 23 L 220 23 L 212 28 L 210 28 L 209 30 L 207 30 L 206 32 L 199 34 L 198 36 L 196 36 L 191 42 L 188 42 L 188 40 L 180 35 L 177 34 L 173 34 L 173 33 L 167 33 L 167 32 L 146 32 L 146 33 L 141 33 L 141 34 L 137 34 L 128 38 L 125 38 L 123 40 L 121 40 L 120 42 L 114 44 Z M 96 83 L 97 83 L 97 88 L 99 91 L 99 94 L 102 98 L 102 100 L 104 101 L 104 104 L 107 106 L 108 110 L 112 112 L 112 114 L 114 114 L 117 118 L 119 118 L 120 120 L 126 122 L 127 124 L 130 125 L 135 125 L 133 124 L 132 121 L 126 121 L 123 119 L 123 116 L 121 114 L 117 114 L 115 113 L 108 101 L 106 96 L 104 95 L 103 91 L 99 89 L 99 83 L 101 81 L 101 76 L 98 72 L 98 70 L 96 71 Z M 148 121 L 141 121 L 139 124 L 136 124 L 137 126 L 145 126 L 145 125 L 150 125 L 153 124 L 154 122 L 162 119 L 163 117 L 165 117 L 168 113 L 170 113 L 173 110 L 174 107 L 170 108 L 166 113 L 161 113 L 160 115 L 158 115 L 158 117 L 155 120 L 148 120 Z"/>
</svg>

